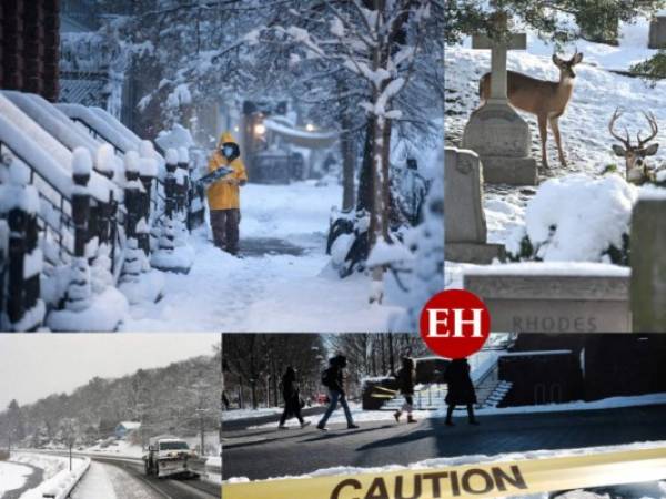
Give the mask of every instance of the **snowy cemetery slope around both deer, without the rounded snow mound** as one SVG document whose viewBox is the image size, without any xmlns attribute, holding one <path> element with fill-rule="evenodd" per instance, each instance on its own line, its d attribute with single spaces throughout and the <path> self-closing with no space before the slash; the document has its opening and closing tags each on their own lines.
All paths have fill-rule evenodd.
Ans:
<svg viewBox="0 0 666 499">
<path fill-rule="evenodd" d="M 655 52 L 645 48 L 648 23 L 642 20 L 634 26 L 623 24 L 620 31 L 623 38 L 619 47 L 577 41 L 578 51 L 584 53 L 584 60 L 576 67 L 574 94 L 559 120 L 569 166 L 568 170 L 561 169 L 554 139 L 549 134 L 547 145 L 551 175 L 585 173 L 597 177 L 608 164 L 616 164 L 624 172 L 624 160 L 613 154 L 614 139 L 607 130 L 616 106 L 622 106 L 625 111 L 617 122 L 617 129 L 624 130 L 627 126 L 634 141 L 638 131 L 643 131 L 643 136 L 646 135 L 647 123 L 640 111 L 652 111 L 655 114 L 659 123 L 659 133 L 655 141 L 660 142 L 662 146 L 652 159 L 652 163 L 660 165 L 666 162 L 666 106 L 663 105 L 666 81 L 658 82 L 656 88 L 652 89 L 639 79 L 607 71 L 626 70 L 630 64 L 645 60 Z M 567 50 L 573 53 L 573 47 Z M 508 69 L 555 81 L 558 70 L 551 61 L 552 54 L 552 43 L 538 40 L 534 32 L 528 31 L 527 51 L 511 51 Z M 468 40 L 463 45 L 446 48 L 446 89 L 452 92 L 446 108 L 447 143 L 460 141 L 471 112 L 478 105 L 478 80 L 488 68 L 490 51 L 472 50 Z M 531 114 L 521 114 L 529 122 L 533 156 L 539 161 L 541 143 L 535 119 Z M 524 223 L 525 203 L 528 197 L 528 194 L 518 189 L 486 186 L 484 207 L 488 242 L 505 243 L 514 227 Z M 576 204 L 572 200 L 562 201 Z M 553 212 L 557 215 L 559 210 Z"/>
</svg>

